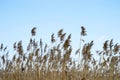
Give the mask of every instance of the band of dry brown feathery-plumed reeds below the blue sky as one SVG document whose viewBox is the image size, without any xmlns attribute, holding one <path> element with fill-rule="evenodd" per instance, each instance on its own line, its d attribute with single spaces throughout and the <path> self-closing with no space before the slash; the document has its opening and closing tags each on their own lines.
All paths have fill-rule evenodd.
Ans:
<svg viewBox="0 0 120 80">
<path fill-rule="evenodd" d="M 27 50 L 22 41 L 15 42 L 15 54 L 10 60 L 7 47 L 0 45 L 0 80 L 119 80 L 120 79 L 120 45 L 113 39 L 103 44 L 103 50 L 96 51 L 100 60 L 92 56 L 93 41 L 85 43 L 86 30 L 81 27 L 80 47 L 75 53 L 78 61 L 71 57 L 71 34 L 67 36 L 63 29 L 57 36 L 51 35 L 51 44 L 40 39 L 36 41 L 36 27 L 31 30 Z M 57 37 L 57 38 L 55 38 Z M 84 42 L 84 44 L 82 44 Z M 83 45 L 83 47 L 81 47 Z M 79 53 L 79 55 L 78 55 Z M 80 57 L 81 55 L 81 57 Z M 78 62 L 78 64 L 77 64 Z"/>
</svg>

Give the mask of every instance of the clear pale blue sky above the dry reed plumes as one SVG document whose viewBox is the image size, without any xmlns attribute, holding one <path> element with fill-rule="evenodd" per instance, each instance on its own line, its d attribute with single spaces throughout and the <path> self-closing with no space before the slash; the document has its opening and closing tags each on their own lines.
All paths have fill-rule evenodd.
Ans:
<svg viewBox="0 0 120 80">
<path fill-rule="evenodd" d="M 25 45 L 34 26 L 44 42 L 63 28 L 72 34 L 73 48 L 85 26 L 86 42 L 94 40 L 99 49 L 107 39 L 120 42 L 120 0 L 0 0 L 0 43 L 9 49 L 15 41 Z"/>
</svg>

